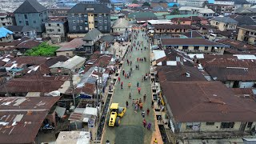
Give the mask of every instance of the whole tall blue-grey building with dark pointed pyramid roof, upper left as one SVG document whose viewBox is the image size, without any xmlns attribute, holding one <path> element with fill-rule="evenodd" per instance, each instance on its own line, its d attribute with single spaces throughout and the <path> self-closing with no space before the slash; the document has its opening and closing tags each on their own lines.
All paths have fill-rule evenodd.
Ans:
<svg viewBox="0 0 256 144">
<path fill-rule="evenodd" d="M 31 26 L 38 34 L 45 31 L 43 22 L 48 20 L 48 10 L 36 0 L 26 0 L 14 11 L 17 26 Z"/>
</svg>

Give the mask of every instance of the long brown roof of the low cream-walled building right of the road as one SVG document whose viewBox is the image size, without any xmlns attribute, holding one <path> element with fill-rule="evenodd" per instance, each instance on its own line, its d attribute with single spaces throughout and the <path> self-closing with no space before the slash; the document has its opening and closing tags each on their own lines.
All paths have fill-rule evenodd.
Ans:
<svg viewBox="0 0 256 144">
<path fill-rule="evenodd" d="M 205 38 L 160 38 L 162 46 L 225 46 L 222 43 L 211 42 Z"/>
</svg>

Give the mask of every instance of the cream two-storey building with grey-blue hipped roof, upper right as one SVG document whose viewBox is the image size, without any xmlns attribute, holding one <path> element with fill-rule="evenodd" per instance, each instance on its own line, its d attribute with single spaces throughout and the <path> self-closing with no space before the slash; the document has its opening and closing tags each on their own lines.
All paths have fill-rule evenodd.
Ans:
<svg viewBox="0 0 256 144">
<path fill-rule="evenodd" d="M 210 26 L 218 28 L 218 30 L 235 30 L 238 22 L 229 17 L 215 17 L 210 21 Z"/>
</svg>

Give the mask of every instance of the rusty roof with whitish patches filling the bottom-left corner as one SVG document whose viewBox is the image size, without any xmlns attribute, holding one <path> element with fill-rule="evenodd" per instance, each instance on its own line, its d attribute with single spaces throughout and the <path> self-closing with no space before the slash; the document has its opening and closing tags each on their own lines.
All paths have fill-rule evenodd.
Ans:
<svg viewBox="0 0 256 144">
<path fill-rule="evenodd" d="M 0 98 L 0 142 L 33 143 L 43 120 L 59 98 Z"/>
</svg>

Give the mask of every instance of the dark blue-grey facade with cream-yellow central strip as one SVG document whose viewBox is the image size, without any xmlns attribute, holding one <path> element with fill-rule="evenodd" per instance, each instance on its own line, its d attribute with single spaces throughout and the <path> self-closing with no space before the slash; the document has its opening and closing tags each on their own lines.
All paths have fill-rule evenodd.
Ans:
<svg viewBox="0 0 256 144">
<path fill-rule="evenodd" d="M 97 28 L 102 33 L 110 32 L 110 14 L 68 14 L 70 33 L 87 33 Z"/>
</svg>

